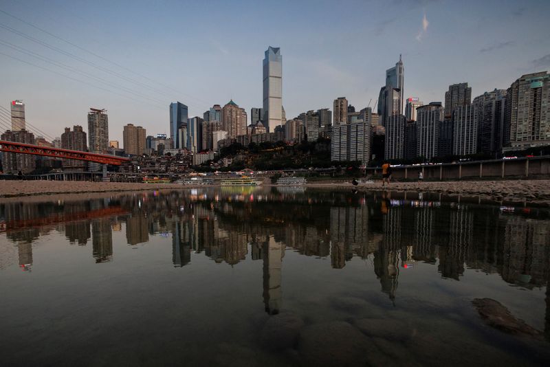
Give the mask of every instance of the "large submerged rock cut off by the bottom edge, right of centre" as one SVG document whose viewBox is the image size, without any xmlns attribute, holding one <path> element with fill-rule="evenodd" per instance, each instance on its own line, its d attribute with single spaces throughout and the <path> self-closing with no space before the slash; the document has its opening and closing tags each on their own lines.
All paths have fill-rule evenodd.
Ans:
<svg viewBox="0 0 550 367">
<path fill-rule="evenodd" d="M 369 354 L 377 353 L 369 338 L 341 321 L 306 326 L 298 351 L 306 366 L 365 366 Z"/>
</svg>

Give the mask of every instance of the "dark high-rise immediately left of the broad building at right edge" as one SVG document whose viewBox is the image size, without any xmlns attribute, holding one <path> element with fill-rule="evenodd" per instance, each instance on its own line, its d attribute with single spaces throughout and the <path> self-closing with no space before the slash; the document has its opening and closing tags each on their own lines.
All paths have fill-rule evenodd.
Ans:
<svg viewBox="0 0 550 367">
<path fill-rule="evenodd" d="M 477 107 L 477 151 L 496 155 L 502 151 L 505 115 L 504 89 L 494 89 L 474 98 Z"/>
</svg>

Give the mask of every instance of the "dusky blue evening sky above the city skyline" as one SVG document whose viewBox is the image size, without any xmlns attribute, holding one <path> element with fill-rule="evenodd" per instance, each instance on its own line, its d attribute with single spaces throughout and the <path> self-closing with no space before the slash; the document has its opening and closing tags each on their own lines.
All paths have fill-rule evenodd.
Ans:
<svg viewBox="0 0 550 367">
<path fill-rule="evenodd" d="M 23 100 L 47 137 L 107 109 L 121 144 L 129 123 L 169 133 L 175 101 L 202 117 L 232 99 L 250 119 L 268 46 L 281 47 L 287 119 L 341 96 L 374 107 L 399 54 L 406 97 L 468 82 L 473 98 L 550 69 L 548 14 L 548 0 L 0 0 L 0 106 Z"/>
</svg>

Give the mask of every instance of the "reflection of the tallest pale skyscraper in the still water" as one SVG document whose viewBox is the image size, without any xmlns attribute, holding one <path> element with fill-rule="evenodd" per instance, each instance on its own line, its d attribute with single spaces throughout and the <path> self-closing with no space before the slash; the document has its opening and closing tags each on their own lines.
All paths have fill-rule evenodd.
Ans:
<svg viewBox="0 0 550 367">
<path fill-rule="evenodd" d="M 265 312 L 276 315 L 281 310 L 283 302 L 281 271 L 285 245 L 275 242 L 273 236 L 270 236 L 269 242 L 264 243 L 263 249 L 263 303 Z"/>
</svg>

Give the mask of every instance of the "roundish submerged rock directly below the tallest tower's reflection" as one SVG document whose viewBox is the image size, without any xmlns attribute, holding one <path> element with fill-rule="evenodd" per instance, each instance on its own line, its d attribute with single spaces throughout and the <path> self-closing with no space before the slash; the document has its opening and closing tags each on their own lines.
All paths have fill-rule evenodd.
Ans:
<svg viewBox="0 0 550 367">
<path fill-rule="evenodd" d="M 303 320 L 294 313 L 279 313 L 271 316 L 263 326 L 260 342 L 272 351 L 292 348 L 303 326 Z"/>
</svg>

